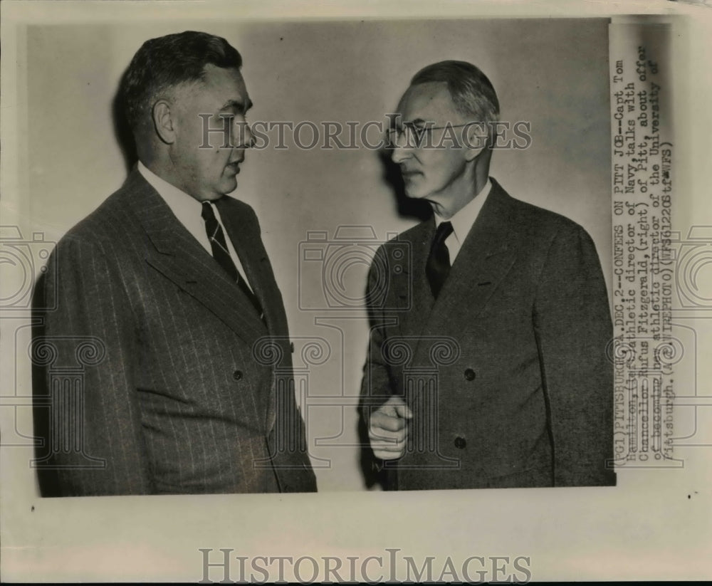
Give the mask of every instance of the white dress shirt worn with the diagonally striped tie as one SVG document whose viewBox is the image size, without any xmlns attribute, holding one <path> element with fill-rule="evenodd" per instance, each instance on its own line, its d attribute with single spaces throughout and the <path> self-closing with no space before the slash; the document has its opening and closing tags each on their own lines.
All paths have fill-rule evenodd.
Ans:
<svg viewBox="0 0 712 586">
<path fill-rule="evenodd" d="M 153 187 L 153 189 L 155 189 L 163 198 L 164 202 L 168 204 L 168 207 L 171 209 L 174 216 L 177 217 L 178 221 L 183 224 L 185 229 L 190 232 L 194 239 L 196 239 L 201 246 L 208 251 L 208 254 L 213 256 L 213 250 L 210 246 L 208 234 L 205 231 L 205 221 L 201 216 L 203 203 L 199 202 L 186 192 L 181 191 L 174 185 L 169 184 L 169 182 L 165 179 L 161 179 L 140 161 L 138 162 L 138 170 L 140 174 L 142 174 L 143 178 L 151 184 L 151 187 Z M 214 203 L 210 202 L 210 206 L 212 207 L 215 217 L 220 224 L 223 233 L 225 234 L 225 241 L 232 261 L 235 263 L 235 266 L 242 278 L 244 278 L 245 282 L 249 285 L 250 281 L 248 281 L 245 269 L 240 262 L 240 257 L 232 245 L 230 236 L 227 234 L 225 226 L 222 223 L 220 212 Z"/>
</svg>

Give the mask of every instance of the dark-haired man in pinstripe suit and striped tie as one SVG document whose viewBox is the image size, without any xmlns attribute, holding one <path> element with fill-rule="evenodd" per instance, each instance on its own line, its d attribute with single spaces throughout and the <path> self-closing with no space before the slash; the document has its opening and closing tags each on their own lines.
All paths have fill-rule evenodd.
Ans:
<svg viewBox="0 0 712 586">
<path fill-rule="evenodd" d="M 254 212 L 225 195 L 252 140 L 240 68 L 187 31 L 125 73 L 139 162 L 36 288 L 36 307 L 57 295 L 34 339 L 53 353 L 33 376 L 43 496 L 316 490 L 281 293 Z M 78 390 L 57 366 L 82 344 Z"/>
</svg>

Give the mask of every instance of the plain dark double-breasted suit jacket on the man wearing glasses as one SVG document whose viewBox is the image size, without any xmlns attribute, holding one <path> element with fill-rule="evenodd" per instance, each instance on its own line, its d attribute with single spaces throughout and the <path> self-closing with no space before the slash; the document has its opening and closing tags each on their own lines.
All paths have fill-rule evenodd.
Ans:
<svg viewBox="0 0 712 586">
<path fill-rule="evenodd" d="M 390 488 L 614 484 L 612 326 L 590 237 L 493 180 L 434 302 L 433 236 L 432 219 L 404 232 L 370 274 L 384 293 L 370 295 L 364 416 L 390 394 L 414 410 Z"/>
</svg>

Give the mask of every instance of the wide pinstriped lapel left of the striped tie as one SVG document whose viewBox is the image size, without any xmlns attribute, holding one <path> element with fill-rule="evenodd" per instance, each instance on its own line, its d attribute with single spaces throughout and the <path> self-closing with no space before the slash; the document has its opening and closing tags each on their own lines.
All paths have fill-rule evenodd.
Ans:
<svg viewBox="0 0 712 586">
<path fill-rule="evenodd" d="M 153 245 L 144 249 L 147 263 L 211 310 L 249 345 L 265 335 L 264 325 L 239 286 L 137 169 L 129 175 L 125 188 L 131 211 Z"/>
</svg>

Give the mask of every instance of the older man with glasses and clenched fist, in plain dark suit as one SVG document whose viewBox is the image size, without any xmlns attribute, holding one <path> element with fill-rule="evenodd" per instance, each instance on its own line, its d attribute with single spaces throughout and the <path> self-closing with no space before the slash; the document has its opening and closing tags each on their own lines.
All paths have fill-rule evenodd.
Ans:
<svg viewBox="0 0 712 586">
<path fill-rule="evenodd" d="M 595 246 L 489 176 L 498 115 L 488 78 L 444 61 L 414 76 L 389 132 L 407 195 L 433 211 L 369 277 L 362 415 L 389 489 L 615 483 Z"/>
</svg>

